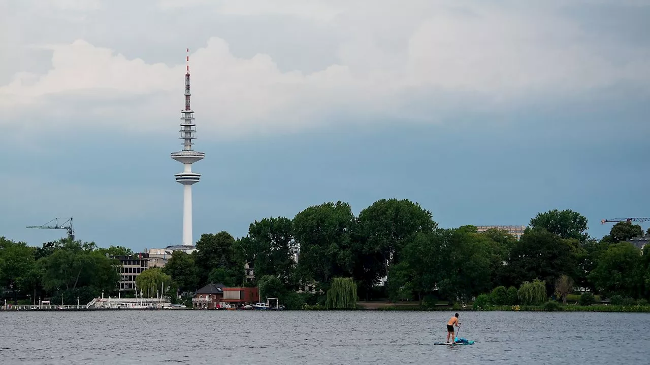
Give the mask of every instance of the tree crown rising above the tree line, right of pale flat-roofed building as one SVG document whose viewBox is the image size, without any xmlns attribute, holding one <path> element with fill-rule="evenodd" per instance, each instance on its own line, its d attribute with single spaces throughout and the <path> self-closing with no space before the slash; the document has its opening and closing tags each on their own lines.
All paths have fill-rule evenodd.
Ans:
<svg viewBox="0 0 650 365">
<path fill-rule="evenodd" d="M 549 210 L 545 213 L 538 213 L 530 220 L 530 227 L 543 228 L 550 233 L 557 234 L 562 238 L 574 238 L 584 242 L 588 238 L 587 218 L 573 210 Z"/>
</svg>

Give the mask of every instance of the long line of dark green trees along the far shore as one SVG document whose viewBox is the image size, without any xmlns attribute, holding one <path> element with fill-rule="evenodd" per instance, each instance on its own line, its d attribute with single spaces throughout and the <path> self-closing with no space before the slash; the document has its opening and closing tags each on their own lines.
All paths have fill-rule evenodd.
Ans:
<svg viewBox="0 0 650 365">
<path fill-rule="evenodd" d="M 330 202 L 306 208 L 292 219 L 255 221 L 244 237 L 225 231 L 202 234 L 197 251 L 175 251 L 162 270 L 151 271 L 142 280 L 152 288 L 166 282 L 166 288 L 186 297 L 207 283 L 259 286 L 263 297 L 279 297 L 290 308 L 305 303 L 326 307 L 339 297 L 349 306 L 349 294 L 340 294 L 340 284 L 335 284 L 340 293 L 330 294 L 328 302 L 328 290 L 333 283 L 343 283 L 337 281 L 341 278 L 354 281 L 354 287 L 345 287 L 361 300 L 411 300 L 424 305 L 471 301 L 497 288 L 512 297 L 511 289 L 521 290 L 528 283 L 536 292 L 541 283 L 547 296 L 556 295 L 562 285 L 570 286 L 569 292 L 580 288 L 604 297 L 650 296 L 650 255 L 642 255 L 649 247 L 642 252 L 625 242 L 643 233 L 639 225 L 616 223 L 610 234 L 597 239 L 588 236 L 588 221 L 578 212 L 550 210 L 532 218 L 528 226 L 517 240 L 497 229 L 478 233 L 473 225 L 438 227 L 430 211 L 406 199 L 381 199 L 357 216 L 348 203 Z M 31 290 L 47 294 L 81 288 L 95 293 L 116 290 L 119 275 L 81 269 L 103 267 L 99 257 L 105 258 L 101 250 L 108 249 L 62 242 L 48 246 L 52 251 L 43 255 L 45 244 L 32 248 L 0 241 L 0 286 L 23 298 Z M 123 247 L 112 247 L 117 249 Z M 60 250 L 58 258 L 49 258 Z M 21 255 L 29 258 L 17 264 L 12 257 Z M 85 258 L 63 260 L 74 255 Z M 246 281 L 247 262 L 255 271 L 254 281 Z M 55 267 L 59 271 L 54 272 Z M 45 275 L 46 269 L 50 271 Z M 79 282 L 72 280 L 76 277 Z M 74 295 L 70 293 L 61 294 L 64 301 L 66 295 Z"/>
</svg>

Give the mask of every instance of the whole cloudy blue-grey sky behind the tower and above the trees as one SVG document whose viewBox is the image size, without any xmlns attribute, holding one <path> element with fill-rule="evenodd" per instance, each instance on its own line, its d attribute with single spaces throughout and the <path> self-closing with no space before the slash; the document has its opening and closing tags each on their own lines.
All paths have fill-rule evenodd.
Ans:
<svg viewBox="0 0 650 365">
<path fill-rule="evenodd" d="M 650 2 L 0 2 L 0 236 L 181 243 L 186 49 L 194 240 L 410 199 L 440 227 L 648 217 Z M 643 223 L 643 228 L 649 227 Z"/>
</svg>

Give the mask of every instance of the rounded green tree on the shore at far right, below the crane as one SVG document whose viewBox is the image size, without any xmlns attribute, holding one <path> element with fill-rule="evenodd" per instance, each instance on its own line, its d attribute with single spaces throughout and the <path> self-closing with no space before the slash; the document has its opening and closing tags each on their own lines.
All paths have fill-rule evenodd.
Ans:
<svg viewBox="0 0 650 365">
<path fill-rule="evenodd" d="M 599 257 L 591 280 L 605 296 L 638 298 L 643 293 L 643 257 L 628 242 L 611 245 Z"/>
</svg>

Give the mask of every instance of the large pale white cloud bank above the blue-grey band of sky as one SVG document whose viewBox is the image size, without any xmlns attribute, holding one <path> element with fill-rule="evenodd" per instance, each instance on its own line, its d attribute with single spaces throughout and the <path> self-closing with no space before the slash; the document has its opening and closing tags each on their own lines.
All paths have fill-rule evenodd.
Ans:
<svg viewBox="0 0 650 365">
<path fill-rule="evenodd" d="M 580 3 L 587 2 L 573 4 Z M 59 6 L 79 10 L 80 4 Z M 86 10 L 101 5 L 93 4 Z M 206 43 L 190 55 L 201 138 L 302 131 L 355 119 L 439 123 L 454 111 L 606 94 L 621 85 L 647 93 L 650 50 L 634 44 L 612 48 L 565 16 L 559 4 L 158 2 L 162 12 L 182 5 L 214 14 L 317 19 L 341 40 L 336 62 L 304 73 L 282 71 L 265 53 L 237 57 L 229 40 L 206 34 Z M 164 64 L 83 39 L 38 47 L 51 51 L 51 67 L 45 73 L 19 71 L 0 86 L 0 107 L 29 110 L 23 112 L 32 117 L 24 129 L 88 125 L 92 118 L 93 126 L 168 132 L 183 107 L 183 49 L 181 62 Z M 0 129 L 12 123 L 0 120 Z"/>
</svg>

